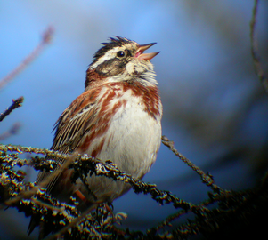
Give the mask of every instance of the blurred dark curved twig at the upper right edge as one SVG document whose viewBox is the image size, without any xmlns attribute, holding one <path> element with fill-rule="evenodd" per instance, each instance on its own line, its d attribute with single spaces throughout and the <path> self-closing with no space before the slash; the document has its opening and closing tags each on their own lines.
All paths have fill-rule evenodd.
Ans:
<svg viewBox="0 0 268 240">
<path fill-rule="evenodd" d="M 254 7 L 252 11 L 252 18 L 250 21 L 250 42 L 251 42 L 251 55 L 253 58 L 256 74 L 259 77 L 261 83 L 264 85 L 264 89 L 268 92 L 268 79 L 264 76 L 264 70 L 261 67 L 260 57 L 257 54 L 257 41 L 256 41 L 256 13 L 258 0 L 254 1 Z"/>
</svg>

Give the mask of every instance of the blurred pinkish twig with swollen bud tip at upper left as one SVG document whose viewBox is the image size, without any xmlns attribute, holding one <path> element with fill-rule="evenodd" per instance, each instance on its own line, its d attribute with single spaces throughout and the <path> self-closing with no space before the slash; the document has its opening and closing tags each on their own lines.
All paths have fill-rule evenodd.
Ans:
<svg viewBox="0 0 268 240">
<path fill-rule="evenodd" d="M 17 68 L 13 69 L 10 74 L 2 78 L 2 80 L 0 81 L 0 89 L 3 88 L 5 84 L 11 82 L 12 79 L 17 76 L 24 68 L 26 68 L 31 61 L 35 60 L 37 56 L 40 55 L 40 53 L 44 50 L 45 45 L 51 43 L 52 36 L 53 27 L 46 28 L 42 36 L 41 42 L 37 45 L 33 52 L 31 52 Z"/>
</svg>

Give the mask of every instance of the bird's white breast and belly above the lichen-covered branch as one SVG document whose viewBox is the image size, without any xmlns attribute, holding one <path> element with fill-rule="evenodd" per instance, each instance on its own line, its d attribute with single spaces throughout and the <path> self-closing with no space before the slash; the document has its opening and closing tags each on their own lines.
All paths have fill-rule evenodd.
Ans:
<svg viewBox="0 0 268 240">
<path fill-rule="evenodd" d="M 105 133 L 107 140 L 98 158 L 110 159 L 118 168 L 141 178 L 156 160 L 161 139 L 160 120 L 148 115 L 141 105 L 128 101 L 119 108 Z"/>
</svg>

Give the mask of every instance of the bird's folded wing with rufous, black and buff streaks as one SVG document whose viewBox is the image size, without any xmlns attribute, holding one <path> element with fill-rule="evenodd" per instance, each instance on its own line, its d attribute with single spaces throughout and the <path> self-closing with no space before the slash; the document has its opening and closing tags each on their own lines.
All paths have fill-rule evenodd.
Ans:
<svg viewBox="0 0 268 240">
<path fill-rule="evenodd" d="M 97 100 L 101 88 L 90 89 L 83 92 L 74 100 L 68 108 L 64 110 L 53 129 L 56 130 L 52 150 L 61 153 L 70 154 L 75 151 L 83 140 L 86 132 L 89 132 L 94 124 L 97 123 Z M 59 160 L 62 164 L 64 159 Z M 55 171 L 55 170 L 54 170 Z M 52 172 L 39 172 L 37 175 L 37 184 L 45 180 Z M 49 193 L 53 188 L 59 176 L 55 176 L 46 185 Z"/>
</svg>

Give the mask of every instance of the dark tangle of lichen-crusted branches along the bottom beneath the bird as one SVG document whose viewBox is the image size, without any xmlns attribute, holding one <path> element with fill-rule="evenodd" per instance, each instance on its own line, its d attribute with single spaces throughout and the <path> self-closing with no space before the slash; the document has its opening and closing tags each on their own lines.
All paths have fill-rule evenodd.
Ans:
<svg viewBox="0 0 268 240">
<path fill-rule="evenodd" d="M 26 152 L 53 156 L 55 159 L 50 160 L 45 157 L 34 156 L 29 160 L 19 157 L 20 154 Z M 150 194 L 160 204 L 172 203 L 176 209 L 180 208 L 178 212 L 167 217 L 157 227 L 148 229 L 146 233 L 130 232 L 128 229 L 119 229 L 114 226 L 115 219 L 107 211 L 105 205 L 98 207 L 91 214 L 85 214 L 85 218 L 83 215 L 83 218 L 80 217 L 79 219 L 81 212 L 77 210 L 78 203 L 74 197 L 71 198 L 70 204 L 61 204 L 56 199 L 48 196 L 45 189 L 42 188 L 37 188 L 35 196 L 25 195 L 30 189 L 36 187 L 33 183 L 25 183 L 25 174 L 20 170 L 14 171 L 14 166 L 31 165 L 36 170 L 53 170 L 54 168 L 61 168 L 57 159 L 67 159 L 70 156 L 47 149 L 10 145 L 0 145 L 0 153 L 0 204 L 6 206 L 6 203 L 8 203 L 9 206 L 16 207 L 20 212 L 24 212 L 26 216 L 34 216 L 41 226 L 43 225 L 46 229 L 58 233 L 54 236 L 63 235 L 64 239 L 97 236 L 100 239 L 138 239 L 138 237 L 142 237 L 142 239 L 185 239 L 206 231 L 206 229 L 216 230 L 226 220 L 230 219 L 231 221 L 233 215 L 237 218 L 243 218 L 245 214 L 250 216 L 256 204 L 259 206 L 260 202 L 264 204 L 264 201 L 268 200 L 268 178 L 264 178 L 263 184 L 255 190 L 240 192 L 212 191 L 208 193 L 207 201 L 200 204 L 191 204 L 168 191 L 159 190 L 154 184 L 135 180 L 125 172 L 118 170 L 116 164 L 112 164 L 110 161 L 102 163 L 101 160 L 90 156 L 79 155 L 73 158 L 73 161 L 69 164 L 69 168 L 75 170 L 73 180 L 77 180 L 83 174 L 96 174 L 114 180 L 122 180 L 130 183 L 136 193 Z M 83 171 L 81 171 L 82 169 Z M 10 199 L 17 200 L 10 201 Z M 207 208 L 208 205 L 215 203 L 218 204 L 217 207 Z M 176 224 L 175 220 L 189 212 L 194 214 L 194 220 L 176 228 L 168 229 L 171 224 Z M 64 231 L 62 231 L 62 228 Z M 47 233 L 45 233 L 46 235 Z"/>
</svg>

